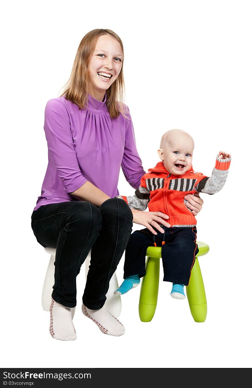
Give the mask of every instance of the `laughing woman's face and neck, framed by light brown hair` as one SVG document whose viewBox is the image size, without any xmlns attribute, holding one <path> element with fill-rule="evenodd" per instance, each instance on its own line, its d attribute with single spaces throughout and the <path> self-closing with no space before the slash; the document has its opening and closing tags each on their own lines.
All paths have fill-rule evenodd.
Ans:
<svg viewBox="0 0 252 388">
<path fill-rule="evenodd" d="M 122 69 L 123 54 L 120 43 L 110 35 L 98 38 L 89 62 L 89 73 L 94 90 L 92 97 L 103 101 L 105 91 Z"/>
</svg>

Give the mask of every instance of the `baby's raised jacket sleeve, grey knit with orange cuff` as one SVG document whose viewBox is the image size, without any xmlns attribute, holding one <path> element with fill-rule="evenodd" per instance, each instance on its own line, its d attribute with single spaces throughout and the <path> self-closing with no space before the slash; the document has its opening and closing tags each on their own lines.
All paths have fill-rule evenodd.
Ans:
<svg viewBox="0 0 252 388">
<path fill-rule="evenodd" d="M 200 173 L 195 190 L 207 194 L 216 194 L 221 191 L 228 177 L 230 162 L 231 158 L 219 159 L 217 156 L 212 175 L 210 177 L 206 177 Z"/>
</svg>

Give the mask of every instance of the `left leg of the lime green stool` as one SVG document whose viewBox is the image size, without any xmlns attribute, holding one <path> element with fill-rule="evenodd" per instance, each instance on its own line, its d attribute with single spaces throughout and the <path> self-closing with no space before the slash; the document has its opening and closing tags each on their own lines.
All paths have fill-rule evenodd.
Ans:
<svg viewBox="0 0 252 388">
<path fill-rule="evenodd" d="M 146 275 L 142 279 L 139 298 L 139 317 L 142 322 L 150 322 L 156 311 L 159 286 L 160 259 L 147 257 Z"/>
</svg>

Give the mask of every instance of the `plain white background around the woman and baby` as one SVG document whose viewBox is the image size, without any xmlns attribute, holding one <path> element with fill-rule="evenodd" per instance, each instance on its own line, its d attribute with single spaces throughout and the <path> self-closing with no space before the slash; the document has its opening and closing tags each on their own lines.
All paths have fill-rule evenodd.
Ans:
<svg viewBox="0 0 252 388">
<path fill-rule="evenodd" d="M 92 5 L 90 5 L 92 3 Z M 2 367 L 251 367 L 251 2 L 43 1 L 3 6 L 2 36 Z M 193 167 L 210 175 L 219 150 L 231 152 L 227 182 L 202 194 L 198 240 L 207 319 L 194 322 L 187 300 L 162 281 L 153 320 L 138 316 L 140 287 L 122 296 L 121 337 L 106 336 L 81 312 L 77 340 L 49 334 L 41 293 L 49 255 L 30 218 L 47 168 L 47 101 L 70 77 L 76 50 L 94 28 L 109 28 L 125 50 L 125 102 L 144 169 L 168 129 L 195 139 Z M 119 191 L 134 189 L 120 175 Z M 139 225 L 134 224 L 134 229 Z M 141 229 L 141 227 L 140 227 Z M 123 278 L 123 259 L 116 274 Z"/>
</svg>

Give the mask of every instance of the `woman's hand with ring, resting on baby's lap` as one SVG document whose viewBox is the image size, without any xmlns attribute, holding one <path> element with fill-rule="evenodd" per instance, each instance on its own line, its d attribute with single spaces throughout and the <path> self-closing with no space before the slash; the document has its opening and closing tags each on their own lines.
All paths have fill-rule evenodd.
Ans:
<svg viewBox="0 0 252 388">
<path fill-rule="evenodd" d="M 142 211 L 142 210 L 134 210 L 134 209 L 130 209 L 130 210 L 132 211 L 132 214 L 133 214 L 133 222 L 139 223 L 140 225 L 145 226 L 153 234 L 157 234 L 156 231 L 152 228 L 153 226 L 161 233 L 164 233 L 164 230 L 162 229 L 162 227 L 158 225 L 159 223 L 166 226 L 167 228 L 170 228 L 170 224 L 163 220 L 163 218 L 168 220 L 169 216 L 167 216 L 164 213 L 161 213 L 161 211 Z"/>
</svg>

